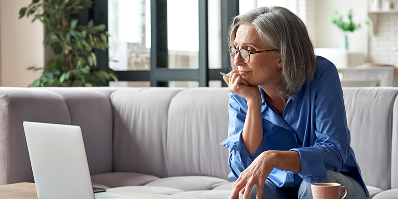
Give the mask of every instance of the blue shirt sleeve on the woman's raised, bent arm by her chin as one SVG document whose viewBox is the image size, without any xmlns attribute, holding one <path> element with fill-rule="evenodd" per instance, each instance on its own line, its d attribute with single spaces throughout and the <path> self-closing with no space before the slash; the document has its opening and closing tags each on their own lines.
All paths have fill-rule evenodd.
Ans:
<svg viewBox="0 0 398 199">
<path fill-rule="evenodd" d="M 247 104 L 244 99 L 229 94 L 229 122 L 228 122 L 228 138 L 222 141 L 219 145 L 229 148 L 228 164 L 232 175 L 228 175 L 231 179 L 239 177 L 253 160 L 262 153 L 262 144 L 257 148 L 253 154 L 249 154 L 246 145 L 242 141 L 243 125 L 246 119 Z M 236 99 L 236 98 L 238 99 Z"/>
</svg>

